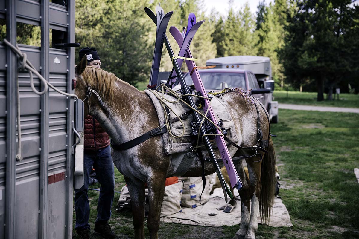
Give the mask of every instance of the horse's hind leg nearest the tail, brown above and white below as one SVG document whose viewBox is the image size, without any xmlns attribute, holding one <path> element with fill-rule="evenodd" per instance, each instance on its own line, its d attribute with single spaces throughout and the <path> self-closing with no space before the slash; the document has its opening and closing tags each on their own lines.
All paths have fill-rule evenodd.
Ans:
<svg viewBox="0 0 359 239">
<path fill-rule="evenodd" d="M 249 181 L 250 181 L 250 199 L 251 206 L 251 218 L 248 225 L 246 239 L 255 239 L 256 232 L 258 231 L 258 214 L 259 214 L 259 199 L 261 195 L 261 162 L 260 157 L 253 157 L 246 159 Z"/>
</svg>

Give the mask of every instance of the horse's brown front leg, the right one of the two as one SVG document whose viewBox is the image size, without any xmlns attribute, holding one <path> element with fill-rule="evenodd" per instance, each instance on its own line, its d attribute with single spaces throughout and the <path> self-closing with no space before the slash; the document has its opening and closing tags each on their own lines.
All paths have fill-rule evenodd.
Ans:
<svg viewBox="0 0 359 239">
<path fill-rule="evenodd" d="M 150 239 L 158 238 L 165 180 L 166 174 L 163 172 L 154 172 L 147 180 L 149 199 L 147 227 L 150 232 Z"/>
</svg>

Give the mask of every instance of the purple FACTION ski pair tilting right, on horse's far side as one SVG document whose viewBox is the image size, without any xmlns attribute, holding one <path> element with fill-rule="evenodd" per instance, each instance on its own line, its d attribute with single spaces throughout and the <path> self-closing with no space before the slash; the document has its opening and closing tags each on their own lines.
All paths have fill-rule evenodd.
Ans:
<svg viewBox="0 0 359 239">
<path fill-rule="evenodd" d="M 181 57 L 187 56 L 187 51 L 190 47 L 190 44 L 192 42 L 194 35 L 196 34 L 198 28 L 202 25 L 202 23 L 204 23 L 204 20 L 202 20 L 202 21 L 195 23 L 194 25 L 191 25 L 191 24 L 193 24 L 193 21 L 196 21 L 196 16 L 195 16 L 195 14 L 190 13 L 190 15 L 188 17 L 187 32 L 186 32 L 185 38 L 181 44 L 180 52 L 178 53 L 177 56 L 181 56 Z M 183 59 L 177 58 L 176 60 L 177 60 L 178 66 L 181 68 Z M 171 73 L 169 74 L 167 83 L 172 87 L 173 84 L 176 82 L 176 79 L 177 79 L 176 72 L 174 71 L 174 67 L 173 67 Z"/>
</svg>

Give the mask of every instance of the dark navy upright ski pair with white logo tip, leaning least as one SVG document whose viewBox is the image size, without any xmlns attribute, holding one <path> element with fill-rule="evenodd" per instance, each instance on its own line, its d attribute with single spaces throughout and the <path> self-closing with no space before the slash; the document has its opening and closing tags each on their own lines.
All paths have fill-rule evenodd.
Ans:
<svg viewBox="0 0 359 239">
<path fill-rule="evenodd" d="M 156 14 L 157 14 L 157 18 L 156 18 L 157 31 L 156 31 L 155 49 L 154 49 L 153 58 L 152 58 L 150 80 L 148 83 L 148 88 L 150 88 L 150 89 L 155 89 L 157 86 L 157 79 L 158 79 L 159 65 L 161 63 L 164 35 L 166 34 L 168 21 L 171 18 L 173 11 L 170 11 L 170 12 L 164 14 L 163 9 L 160 6 L 157 6 Z"/>
</svg>

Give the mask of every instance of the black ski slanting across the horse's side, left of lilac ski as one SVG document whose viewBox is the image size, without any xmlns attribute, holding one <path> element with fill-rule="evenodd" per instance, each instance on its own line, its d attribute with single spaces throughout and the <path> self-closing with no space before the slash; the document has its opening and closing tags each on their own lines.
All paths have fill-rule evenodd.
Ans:
<svg viewBox="0 0 359 239">
<path fill-rule="evenodd" d="M 153 22 L 155 24 L 157 24 L 157 19 L 156 19 L 156 16 L 155 14 L 153 13 L 153 11 L 151 11 L 149 8 L 145 8 L 145 12 L 146 14 L 153 20 Z M 174 57 L 174 53 L 173 53 L 173 50 L 171 48 L 171 45 L 169 44 L 168 42 L 168 39 L 167 39 L 167 36 L 164 35 L 164 44 L 167 48 L 167 51 L 168 51 L 168 54 L 169 54 L 169 57 L 171 58 L 171 60 L 173 59 Z M 184 91 L 185 94 L 190 94 L 191 91 L 188 87 L 188 85 L 186 84 L 185 82 L 185 78 L 183 78 L 183 74 L 182 74 L 182 71 L 181 71 L 181 68 L 178 66 L 178 63 L 177 61 L 172 61 L 174 67 L 175 67 L 175 71 L 177 73 L 177 76 L 180 78 L 180 83 L 182 85 L 182 89 Z M 196 108 L 195 106 L 195 103 L 192 99 L 191 96 L 187 96 L 186 97 L 187 101 L 189 102 L 189 104 L 191 105 L 191 107 L 194 107 Z M 201 116 L 197 113 L 197 112 L 194 112 L 194 118 L 197 122 L 201 122 Z M 204 128 L 204 125 L 201 125 L 200 127 L 200 132 L 202 135 L 205 135 L 206 134 L 206 129 Z M 223 178 L 223 175 L 220 171 L 220 168 L 219 168 L 219 165 L 217 163 L 217 160 L 216 160 L 216 157 L 215 157 L 215 154 L 214 154 L 214 151 L 213 151 L 213 148 L 212 148 L 212 145 L 210 144 L 209 142 L 209 138 L 208 136 L 204 136 L 203 137 L 203 142 L 204 144 L 206 145 L 206 148 L 208 150 L 208 153 L 209 153 L 209 156 L 211 158 L 211 162 L 213 163 L 213 166 L 215 168 L 215 171 L 217 173 L 217 176 L 219 178 L 219 182 L 221 183 L 222 185 L 222 190 L 223 190 L 223 194 L 224 194 L 224 199 L 225 201 L 227 202 L 228 201 L 228 198 L 227 198 L 227 194 L 229 195 L 229 197 L 232 199 L 233 198 L 233 195 L 232 195 L 232 192 L 230 192 L 227 184 L 225 183 L 224 181 L 224 178 Z"/>
</svg>

